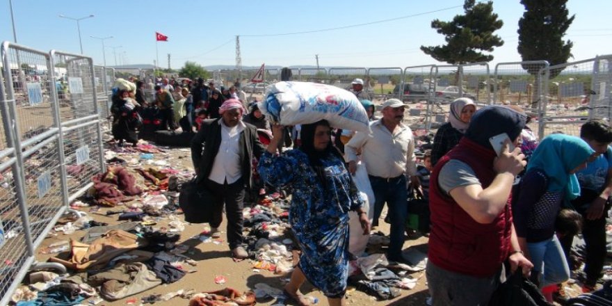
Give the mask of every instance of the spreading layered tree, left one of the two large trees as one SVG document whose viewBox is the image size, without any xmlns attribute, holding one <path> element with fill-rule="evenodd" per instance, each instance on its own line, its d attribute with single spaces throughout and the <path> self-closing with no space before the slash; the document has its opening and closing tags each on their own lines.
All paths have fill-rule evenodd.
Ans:
<svg viewBox="0 0 612 306">
<path fill-rule="evenodd" d="M 475 4 L 475 0 L 465 0 L 463 9 L 465 15 L 456 15 L 451 22 L 431 22 L 437 33 L 446 36 L 446 45 L 421 46 L 421 51 L 453 65 L 492 61 L 492 55 L 481 51 L 492 52 L 494 47 L 504 45 L 504 40 L 493 34 L 504 25 L 493 13 L 493 2 Z"/>
</svg>

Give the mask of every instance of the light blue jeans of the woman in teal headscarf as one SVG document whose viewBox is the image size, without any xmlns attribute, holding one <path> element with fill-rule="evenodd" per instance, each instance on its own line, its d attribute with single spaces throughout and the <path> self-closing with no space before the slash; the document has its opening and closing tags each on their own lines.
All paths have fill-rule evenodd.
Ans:
<svg viewBox="0 0 612 306">
<path fill-rule="evenodd" d="M 556 235 L 545 241 L 527 243 L 533 273 L 540 273 L 540 288 L 549 284 L 561 284 L 570 278 L 565 254 Z M 542 266 L 544 269 L 542 270 Z"/>
</svg>

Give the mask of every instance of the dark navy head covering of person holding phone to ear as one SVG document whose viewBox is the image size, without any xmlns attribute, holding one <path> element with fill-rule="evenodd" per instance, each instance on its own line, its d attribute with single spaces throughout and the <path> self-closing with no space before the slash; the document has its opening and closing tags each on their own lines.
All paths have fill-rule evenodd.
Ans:
<svg viewBox="0 0 612 306">
<path fill-rule="evenodd" d="M 485 106 L 476 111 L 469 120 L 465 137 L 492 150 L 489 138 L 506 133 L 511 141 L 515 140 L 525 127 L 526 119 L 524 113 L 506 106 Z"/>
</svg>

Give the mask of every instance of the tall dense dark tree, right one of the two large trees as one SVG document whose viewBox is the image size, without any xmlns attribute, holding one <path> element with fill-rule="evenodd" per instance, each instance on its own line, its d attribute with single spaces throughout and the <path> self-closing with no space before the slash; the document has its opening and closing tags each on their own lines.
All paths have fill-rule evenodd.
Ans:
<svg viewBox="0 0 612 306">
<path fill-rule="evenodd" d="M 565 3 L 567 0 L 521 0 L 525 13 L 519 20 L 517 49 L 523 61 L 546 60 L 550 65 L 567 63 L 574 43 L 563 41 L 563 36 L 574 21 L 574 15 L 569 17 Z M 542 67 L 544 65 L 523 65 L 536 79 Z M 556 77 L 561 71 L 552 70 L 550 77 Z"/>
</svg>

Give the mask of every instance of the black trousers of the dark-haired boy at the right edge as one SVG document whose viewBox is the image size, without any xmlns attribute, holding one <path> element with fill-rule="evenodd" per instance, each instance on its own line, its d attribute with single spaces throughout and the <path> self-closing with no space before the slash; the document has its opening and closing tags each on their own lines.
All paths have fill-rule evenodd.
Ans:
<svg viewBox="0 0 612 306">
<path fill-rule="evenodd" d="M 606 261 L 606 216 L 608 216 L 609 207 L 606 205 L 604 214 L 597 220 L 588 220 L 586 212 L 578 210 L 582 215 L 582 238 L 585 243 L 586 258 L 584 259 L 584 273 L 586 274 L 586 282 L 590 285 L 595 285 L 599 277 L 602 277 L 602 269 Z M 561 241 L 565 258 L 569 262 L 570 249 L 574 236 L 565 236 Z"/>
</svg>

